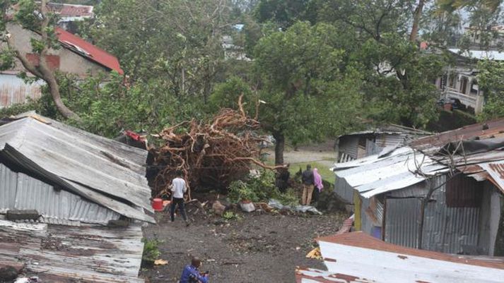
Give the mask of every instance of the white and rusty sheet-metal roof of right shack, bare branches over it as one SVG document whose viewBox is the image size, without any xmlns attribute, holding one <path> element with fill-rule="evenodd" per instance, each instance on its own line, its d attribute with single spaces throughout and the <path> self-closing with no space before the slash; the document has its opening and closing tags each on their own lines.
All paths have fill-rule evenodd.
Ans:
<svg viewBox="0 0 504 283">
<path fill-rule="evenodd" d="M 363 197 L 399 190 L 430 176 L 461 171 L 504 191 L 504 119 L 465 126 L 346 163 L 334 171 Z"/>
</svg>

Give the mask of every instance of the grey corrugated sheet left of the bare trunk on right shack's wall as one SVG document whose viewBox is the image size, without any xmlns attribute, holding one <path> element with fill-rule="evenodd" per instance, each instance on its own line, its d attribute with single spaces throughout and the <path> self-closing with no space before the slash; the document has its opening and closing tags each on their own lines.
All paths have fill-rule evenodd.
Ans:
<svg viewBox="0 0 504 283">
<path fill-rule="evenodd" d="M 418 248 L 421 201 L 417 198 L 387 198 L 385 241 Z"/>
</svg>

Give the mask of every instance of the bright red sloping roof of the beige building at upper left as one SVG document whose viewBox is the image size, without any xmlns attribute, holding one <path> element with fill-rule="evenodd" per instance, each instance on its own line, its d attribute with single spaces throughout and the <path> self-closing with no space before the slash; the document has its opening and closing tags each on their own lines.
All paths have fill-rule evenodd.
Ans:
<svg viewBox="0 0 504 283">
<path fill-rule="evenodd" d="M 95 63 L 117 71 L 117 73 L 124 73 L 116 56 L 100 49 L 99 47 L 96 47 L 93 44 L 90 44 L 89 42 L 86 42 L 86 40 L 83 40 L 81 37 L 72 35 L 70 32 L 61 28 L 56 28 L 56 34 L 59 42 L 63 44 L 65 48 L 71 49 L 73 52 L 76 52 Z"/>
</svg>

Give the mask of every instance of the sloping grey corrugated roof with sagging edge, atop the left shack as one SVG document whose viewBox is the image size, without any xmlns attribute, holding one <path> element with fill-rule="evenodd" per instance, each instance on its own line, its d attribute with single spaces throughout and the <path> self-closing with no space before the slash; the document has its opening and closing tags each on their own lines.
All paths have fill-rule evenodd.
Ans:
<svg viewBox="0 0 504 283">
<path fill-rule="evenodd" d="M 0 126 L 0 150 L 5 160 L 37 178 L 126 217 L 154 222 L 136 207 L 153 211 L 144 176 L 146 150 L 41 116 Z"/>
</svg>

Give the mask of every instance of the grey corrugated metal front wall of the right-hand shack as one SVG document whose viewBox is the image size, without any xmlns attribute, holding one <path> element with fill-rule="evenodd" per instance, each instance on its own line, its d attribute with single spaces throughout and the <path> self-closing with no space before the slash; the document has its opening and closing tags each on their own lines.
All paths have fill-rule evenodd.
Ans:
<svg viewBox="0 0 504 283">
<path fill-rule="evenodd" d="M 422 248 L 443 253 L 478 253 L 480 207 L 447 207 L 445 180 L 445 176 L 433 179 L 433 186 L 440 188 L 433 193 L 426 207 Z M 423 185 L 427 186 L 426 183 Z M 405 189 L 411 191 L 411 188 Z M 418 186 L 417 189 L 426 191 Z M 387 198 L 385 241 L 418 248 L 421 199 L 416 196 Z"/>
</svg>

